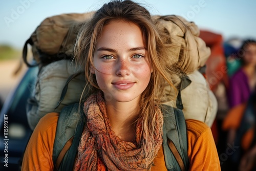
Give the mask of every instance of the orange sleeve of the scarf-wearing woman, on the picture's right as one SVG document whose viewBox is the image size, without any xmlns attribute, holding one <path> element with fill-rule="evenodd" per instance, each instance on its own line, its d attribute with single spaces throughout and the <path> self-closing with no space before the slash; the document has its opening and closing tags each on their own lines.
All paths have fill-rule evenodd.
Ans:
<svg viewBox="0 0 256 171">
<path fill-rule="evenodd" d="M 194 119 L 187 119 L 186 125 L 189 170 L 221 170 L 210 127 Z"/>
</svg>

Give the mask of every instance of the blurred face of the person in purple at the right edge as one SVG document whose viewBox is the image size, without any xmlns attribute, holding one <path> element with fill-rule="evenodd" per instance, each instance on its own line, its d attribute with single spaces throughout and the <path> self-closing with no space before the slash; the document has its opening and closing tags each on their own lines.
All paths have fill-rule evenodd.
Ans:
<svg viewBox="0 0 256 171">
<path fill-rule="evenodd" d="M 256 44 L 248 44 L 244 51 L 245 65 L 256 66 Z"/>
</svg>

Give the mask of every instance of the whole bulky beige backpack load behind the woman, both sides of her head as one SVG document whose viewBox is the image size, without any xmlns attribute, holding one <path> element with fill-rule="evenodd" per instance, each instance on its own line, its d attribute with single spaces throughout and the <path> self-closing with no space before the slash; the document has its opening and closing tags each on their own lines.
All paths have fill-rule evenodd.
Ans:
<svg viewBox="0 0 256 171">
<path fill-rule="evenodd" d="M 78 30 L 82 23 L 87 22 L 93 14 L 94 12 L 72 13 L 48 17 L 41 22 L 26 41 L 23 49 L 24 62 L 28 67 L 35 66 L 27 59 L 28 45 L 30 44 L 33 58 L 36 65 L 39 66 L 36 83 L 30 86 L 33 92 L 27 104 L 27 117 L 32 130 L 34 130 L 42 116 L 49 112 L 60 112 L 64 106 L 79 102 L 79 95 L 82 94 L 83 88 L 86 91 L 84 76 L 73 76 L 83 71 L 79 67 L 77 68 L 72 59 Z M 176 15 L 155 15 L 152 16 L 152 20 L 159 29 L 169 35 L 169 39 L 164 41 L 174 44 L 169 49 L 170 63 L 177 62 L 182 72 L 192 74 L 191 77 L 193 77 L 193 74 L 204 66 L 210 54 L 209 48 L 199 37 L 200 30 L 198 27 L 195 23 L 188 22 Z M 184 51 L 184 49 L 189 51 Z M 194 75 L 194 78 L 199 78 L 198 75 Z M 69 79 L 70 77 L 74 79 Z M 202 97 L 207 98 L 197 99 L 200 101 L 194 104 L 200 103 L 199 108 L 187 108 L 187 104 L 190 104 L 190 106 L 194 106 L 194 104 L 191 104 L 191 100 L 184 101 L 186 107 L 183 113 L 186 119 L 198 119 L 211 126 L 216 116 L 214 108 L 216 99 L 210 94 L 205 79 L 200 79 L 201 82 L 193 80 L 196 83 L 189 86 L 193 91 L 186 89 L 187 91 L 184 90 L 181 96 L 193 97 L 200 93 Z M 65 83 L 67 80 L 69 80 L 69 84 Z M 181 79 L 175 73 L 173 73 L 173 80 L 175 86 L 179 89 Z M 62 89 L 65 89 L 64 93 L 61 92 Z M 194 89 L 198 91 L 194 91 Z M 171 101 L 171 99 L 177 97 L 174 97 L 173 91 L 169 91 L 169 86 L 166 86 L 165 90 L 168 98 L 166 104 L 175 108 L 176 101 Z M 191 92 L 194 94 L 191 95 Z M 189 94 L 187 95 L 187 93 Z M 194 102 L 196 101 L 194 100 Z M 191 113 L 193 113 L 193 116 Z M 195 113 L 200 116 L 195 115 Z"/>
</svg>

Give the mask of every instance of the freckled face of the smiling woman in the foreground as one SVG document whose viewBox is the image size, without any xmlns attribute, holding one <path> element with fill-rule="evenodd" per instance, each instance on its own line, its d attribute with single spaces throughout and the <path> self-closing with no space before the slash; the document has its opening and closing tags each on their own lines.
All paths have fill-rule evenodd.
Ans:
<svg viewBox="0 0 256 171">
<path fill-rule="evenodd" d="M 140 28 L 122 20 L 104 26 L 93 64 L 90 71 L 108 102 L 138 101 L 152 73 Z"/>
</svg>

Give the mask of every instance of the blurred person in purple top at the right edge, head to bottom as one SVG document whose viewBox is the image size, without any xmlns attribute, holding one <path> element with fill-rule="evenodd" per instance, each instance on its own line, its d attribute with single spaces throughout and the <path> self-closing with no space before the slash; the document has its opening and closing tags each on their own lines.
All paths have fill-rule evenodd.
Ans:
<svg viewBox="0 0 256 171">
<path fill-rule="evenodd" d="M 237 56 L 241 59 L 242 66 L 229 80 L 227 97 L 230 110 L 223 122 L 223 130 L 228 131 L 227 144 L 236 148 L 229 158 L 230 166 L 239 170 L 252 170 L 256 157 L 256 147 L 253 147 L 256 41 L 245 40 Z"/>
</svg>

